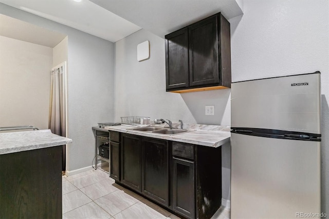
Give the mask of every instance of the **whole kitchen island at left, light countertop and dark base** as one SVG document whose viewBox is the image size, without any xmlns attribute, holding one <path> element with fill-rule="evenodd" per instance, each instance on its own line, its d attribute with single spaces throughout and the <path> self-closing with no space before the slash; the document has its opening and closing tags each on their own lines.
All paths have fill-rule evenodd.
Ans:
<svg viewBox="0 0 329 219">
<path fill-rule="evenodd" d="M 62 218 L 62 145 L 50 130 L 0 133 L 0 218 Z"/>
</svg>

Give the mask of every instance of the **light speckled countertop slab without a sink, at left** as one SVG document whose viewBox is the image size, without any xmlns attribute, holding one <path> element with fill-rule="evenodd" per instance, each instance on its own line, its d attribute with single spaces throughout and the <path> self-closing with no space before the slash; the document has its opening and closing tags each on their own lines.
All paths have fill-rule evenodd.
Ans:
<svg viewBox="0 0 329 219">
<path fill-rule="evenodd" d="M 50 129 L 0 133 L 0 154 L 48 148 L 72 143 L 67 137 L 51 133 Z"/>
</svg>

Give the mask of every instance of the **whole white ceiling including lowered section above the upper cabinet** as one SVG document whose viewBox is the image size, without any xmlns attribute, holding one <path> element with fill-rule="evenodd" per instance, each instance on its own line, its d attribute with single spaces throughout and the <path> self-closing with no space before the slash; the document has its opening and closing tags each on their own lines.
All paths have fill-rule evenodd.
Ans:
<svg viewBox="0 0 329 219">
<path fill-rule="evenodd" d="M 236 1 L 242 0 L 0 0 L 0 3 L 117 42 L 140 29 L 164 38 L 217 12 L 230 19 L 243 14 Z M 10 25 L 9 19 L 1 19 L 1 24 L 8 26 L 7 31 L 9 26 L 17 27 Z M 28 34 L 29 27 L 26 30 Z"/>
</svg>

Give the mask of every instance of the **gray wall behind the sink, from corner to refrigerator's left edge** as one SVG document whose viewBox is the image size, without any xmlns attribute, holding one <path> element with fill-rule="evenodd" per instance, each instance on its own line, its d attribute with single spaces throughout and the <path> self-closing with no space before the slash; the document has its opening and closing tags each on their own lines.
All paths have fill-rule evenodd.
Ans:
<svg viewBox="0 0 329 219">
<path fill-rule="evenodd" d="M 150 41 L 150 59 L 137 61 L 137 45 Z M 192 93 L 166 92 L 165 39 L 140 30 L 116 42 L 115 119 L 150 116 L 172 122 L 230 125 L 230 89 Z M 214 105 L 215 115 L 205 115 Z M 223 146 L 223 198 L 230 200 L 230 144 Z"/>
</svg>

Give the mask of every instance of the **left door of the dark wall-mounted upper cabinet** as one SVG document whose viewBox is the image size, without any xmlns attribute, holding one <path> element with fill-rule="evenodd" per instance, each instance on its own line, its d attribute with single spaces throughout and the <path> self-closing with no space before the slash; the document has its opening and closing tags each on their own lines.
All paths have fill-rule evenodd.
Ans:
<svg viewBox="0 0 329 219">
<path fill-rule="evenodd" d="M 166 89 L 189 86 L 188 29 L 166 35 Z"/>
</svg>

